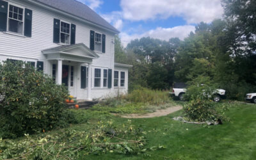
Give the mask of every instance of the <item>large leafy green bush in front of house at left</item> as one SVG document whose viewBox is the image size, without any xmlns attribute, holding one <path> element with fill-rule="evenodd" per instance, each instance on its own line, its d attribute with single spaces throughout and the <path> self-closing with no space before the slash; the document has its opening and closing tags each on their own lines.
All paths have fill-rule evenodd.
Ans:
<svg viewBox="0 0 256 160">
<path fill-rule="evenodd" d="M 42 132 L 65 125 L 67 89 L 28 63 L 0 64 L 0 137 Z"/>
</svg>

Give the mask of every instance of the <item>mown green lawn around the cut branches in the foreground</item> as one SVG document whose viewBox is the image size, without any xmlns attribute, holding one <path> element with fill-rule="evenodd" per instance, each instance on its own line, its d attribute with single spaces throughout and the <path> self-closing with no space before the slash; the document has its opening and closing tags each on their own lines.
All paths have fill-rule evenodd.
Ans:
<svg viewBox="0 0 256 160">
<path fill-rule="evenodd" d="M 75 112 L 80 122 L 83 122 L 69 127 L 76 131 L 91 129 L 99 120 L 112 119 L 116 126 L 127 123 L 127 118 L 116 117 L 108 112 L 83 109 Z M 132 125 L 147 132 L 147 147 L 166 147 L 147 151 L 149 156 L 108 153 L 74 159 L 256 159 L 256 105 L 232 105 L 227 111 L 230 122 L 214 126 L 184 124 L 172 120 L 180 113 L 181 111 L 156 118 L 131 119 Z M 65 129 L 45 134 L 61 134 L 63 130 Z"/>
</svg>

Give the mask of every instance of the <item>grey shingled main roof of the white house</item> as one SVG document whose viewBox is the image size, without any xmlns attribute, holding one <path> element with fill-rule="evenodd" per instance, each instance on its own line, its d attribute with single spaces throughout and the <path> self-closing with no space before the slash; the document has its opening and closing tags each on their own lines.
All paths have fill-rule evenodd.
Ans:
<svg viewBox="0 0 256 160">
<path fill-rule="evenodd" d="M 104 28 L 111 29 L 111 31 L 114 31 L 115 33 L 119 33 L 119 31 L 116 28 L 114 28 L 106 20 L 100 17 L 100 15 L 94 12 L 90 7 L 76 0 L 35 0 L 35 1 L 46 4 L 47 6 L 51 6 L 58 10 L 62 10 L 64 12 L 70 13 L 72 15 L 76 15 L 77 17 L 93 22 L 94 24 L 98 24 L 100 26 L 103 26 Z"/>
</svg>

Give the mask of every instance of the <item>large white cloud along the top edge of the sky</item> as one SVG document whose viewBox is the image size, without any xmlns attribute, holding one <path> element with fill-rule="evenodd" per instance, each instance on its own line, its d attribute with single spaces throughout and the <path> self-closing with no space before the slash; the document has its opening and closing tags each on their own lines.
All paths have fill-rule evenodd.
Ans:
<svg viewBox="0 0 256 160">
<path fill-rule="evenodd" d="M 221 0 L 122 0 L 122 16 L 127 20 L 167 19 L 180 16 L 188 24 L 221 18 Z"/>
</svg>

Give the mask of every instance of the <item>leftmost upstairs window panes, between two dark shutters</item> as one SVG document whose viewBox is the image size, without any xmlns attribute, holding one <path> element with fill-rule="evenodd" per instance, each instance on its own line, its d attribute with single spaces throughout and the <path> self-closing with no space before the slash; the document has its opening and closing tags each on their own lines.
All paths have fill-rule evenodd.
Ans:
<svg viewBox="0 0 256 160">
<path fill-rule="evenodd" d="M 9 4 L 8 31 L 23 35 L 24 8 Z"/>
</svg>

